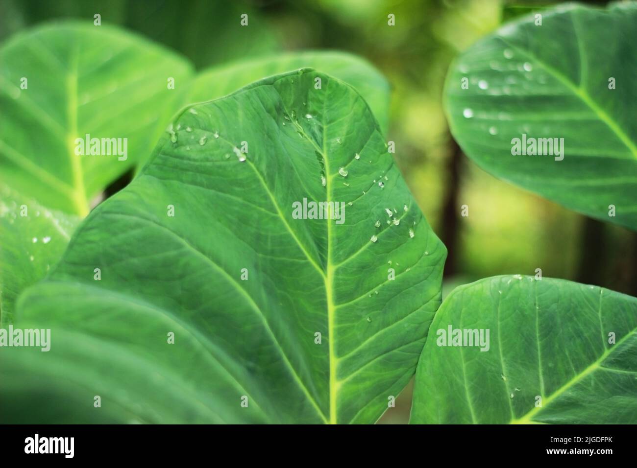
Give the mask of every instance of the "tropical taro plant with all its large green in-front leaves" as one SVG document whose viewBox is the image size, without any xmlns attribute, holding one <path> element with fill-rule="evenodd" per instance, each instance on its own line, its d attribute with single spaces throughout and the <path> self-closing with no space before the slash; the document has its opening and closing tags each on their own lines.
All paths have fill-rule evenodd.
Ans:
<svg viewBox="0 0 637 468">
<path fill-rule="evenodd" d="M 636 19 L 634 3 L 559 7 L 462 53 L 445 92 L 462 149 L 635 229 Z M 3 422 L 373 423 L 414 374 L 412 423 L 637 422 L 636 298 L 539 269 L 441 301 L 447 250 L 363 60 L 196 74 L 67 22 L 0 62 L 0 324 L 52 337 L 0 348 Z M 564 151 L 512 155 L 522 134 Z M 85 135 L 126 138 L 127 157 L 81 154 Z"/>
</svg>

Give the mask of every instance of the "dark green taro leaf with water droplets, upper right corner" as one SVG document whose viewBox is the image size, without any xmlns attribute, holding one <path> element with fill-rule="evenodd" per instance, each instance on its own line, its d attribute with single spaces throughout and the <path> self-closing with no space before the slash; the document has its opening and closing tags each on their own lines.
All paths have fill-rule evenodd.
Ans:
<svg viewBox="0 0 637 468">
<path fill-rule="evenodd" d="M 446 86 L 452 133 L 496 177 L 637 229 L 637 4 L 559 6 L 541 19 L 508 24 L 455 61 Z M 527 149 L 529 138 L 563 138 L 564 159 L 513 155 L 523 134 Z"/>
</svg>

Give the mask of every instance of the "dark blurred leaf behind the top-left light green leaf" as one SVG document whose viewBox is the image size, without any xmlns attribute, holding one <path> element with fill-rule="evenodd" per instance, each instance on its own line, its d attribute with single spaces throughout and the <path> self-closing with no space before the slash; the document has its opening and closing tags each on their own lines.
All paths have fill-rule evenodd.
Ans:
<svg viewBox="0 0 637 468">
<path fill-rule="evenodd" d="M 4 0 L 0 38 L 44 21 L 74 18 L 120 25 L 183 53 L 197 67 L 275 52 L 276 29 L 248 1 L 223 0 Z M 241 15 L 248 25 L 241 25 Z"/>
</svg>

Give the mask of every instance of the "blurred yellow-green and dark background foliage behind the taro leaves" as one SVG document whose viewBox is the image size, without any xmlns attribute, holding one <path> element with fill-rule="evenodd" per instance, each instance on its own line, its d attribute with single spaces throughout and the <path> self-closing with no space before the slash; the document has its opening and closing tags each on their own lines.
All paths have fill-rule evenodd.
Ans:
<svg viewBox="0 0 637 468">
<path fill-rule="evenodd" d="M 606 2 L 585 2 L 600 5 Z M 504 0 L 3 0 L 0 40 L 55 18 L 100 13 L 182 52 L 197 67 L 288 50 L 347 50 L 392 86 L 389 140 L 420 208 L 449 251 L 443 294 L 496 274 L 581 281 L 637 296 L 637 236 L 508 185 L 467 159 L 443 112 L 455 55 L 506 20 L 550 8 Z M 248 27 L 240 26 L 247 13 Z M 387 25 L 393 13 L 396 25 Z M 125 183 L 125 181 L 124 181 Z M 120 188 L 122 181 L 117 182 Z M 107 191 L 108 192 L 108 191 Z M 469 216 L 461 216 L 461 206 Z M 411 385 L 382 423 L 406 422 Z"/>
</svg>

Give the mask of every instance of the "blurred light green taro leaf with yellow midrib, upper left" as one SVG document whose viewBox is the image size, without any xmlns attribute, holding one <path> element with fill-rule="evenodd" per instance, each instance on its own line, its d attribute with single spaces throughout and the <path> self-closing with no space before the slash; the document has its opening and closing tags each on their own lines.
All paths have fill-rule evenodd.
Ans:
<svg viewBox="0 0 637 468">
<path fill-rule="evenodd" d="M 185 60 L 143 38 L 76 22 L 18 34 L 0 48 L 0 63 L 0 182 L 76 215 L 147 157 L 190 74 Z M 121 138 L 122 150 L 126 138 L 126 159 L 76 155 L 75 139 L 86 134 Z"/>
</svg>

